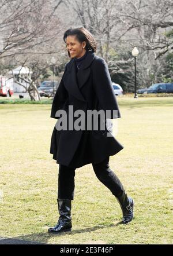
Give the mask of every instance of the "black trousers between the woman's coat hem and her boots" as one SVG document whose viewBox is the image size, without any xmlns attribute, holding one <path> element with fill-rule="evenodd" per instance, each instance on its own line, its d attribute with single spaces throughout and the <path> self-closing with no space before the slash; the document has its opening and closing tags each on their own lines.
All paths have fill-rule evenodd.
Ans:
<svg viewBox="0 0 173 256">
<path fill-rule="evenodd" d="M 109 156 L 98 164 L 92 164 L 97 178 L 112 192 L 114 196 L 119 196 L 123 192 L 123 185 L 115 173 L 110 169 Z M 74 168 L 59 164 L 58 174 L 58 198 L 74 199 Z"/>
</svg>

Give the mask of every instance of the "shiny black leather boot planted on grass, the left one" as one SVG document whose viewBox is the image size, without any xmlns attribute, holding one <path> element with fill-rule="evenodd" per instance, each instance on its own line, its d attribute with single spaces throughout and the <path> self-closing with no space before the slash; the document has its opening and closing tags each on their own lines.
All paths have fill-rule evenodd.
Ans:
<svg viewBox="0 0 173 256">
<path fill-rule="evenodd" d="M 59 220 L 57 225 L 48 229 L 49 233 L 59 233 L 72 230 L 72 200 L 70 199 L 57 199 Z"/>
</svg>

